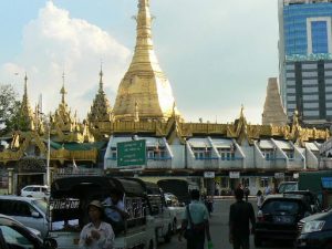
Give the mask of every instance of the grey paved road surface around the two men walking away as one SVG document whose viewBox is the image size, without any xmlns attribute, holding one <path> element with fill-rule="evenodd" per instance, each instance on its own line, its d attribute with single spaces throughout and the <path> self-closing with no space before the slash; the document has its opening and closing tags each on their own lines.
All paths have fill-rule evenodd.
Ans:
<svg viewBox="0 0 332 249">
<path fill-rule="evenodd" d="M 255 200 L 250 200 L 256 207 Z M 216 200 L 215 201 L 215 211 L 210 219 L 210 229 L 211 229 L 211 237 L 214 242 L 214 249 L 232 249 L 232 246 L 228 241 L 228 214 L 229 214 L 229 206 L 232 204 L 232 199 L 224 199 L 224 200 Z M 256 210 L 257 214 L 257 210 Z M 253 237 L 250 236 L 250 248 L 256 248 L 253 246 Z M 292 249 L 289 245 L 266 245 L 263 248 L 260 249 Z M 163 243 L 158 246 L 158 249 L 186 249 L 185 240 L 179 242 L 177 240 L 177 236 L 174 236 L 170 243 Z"/>
</svg>

